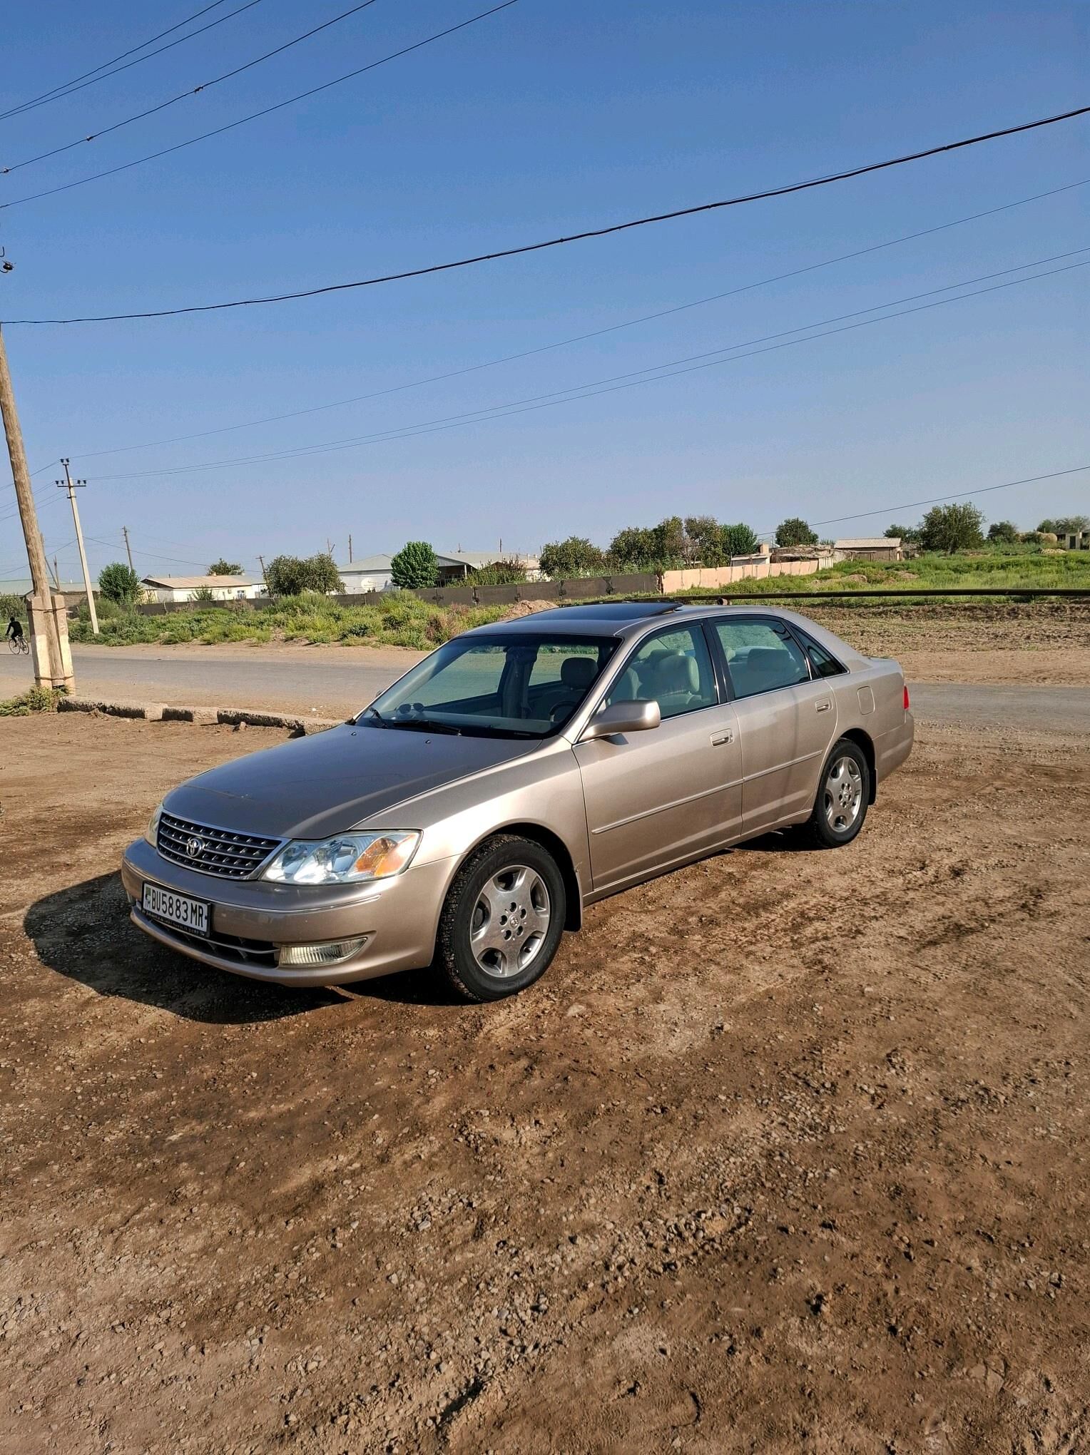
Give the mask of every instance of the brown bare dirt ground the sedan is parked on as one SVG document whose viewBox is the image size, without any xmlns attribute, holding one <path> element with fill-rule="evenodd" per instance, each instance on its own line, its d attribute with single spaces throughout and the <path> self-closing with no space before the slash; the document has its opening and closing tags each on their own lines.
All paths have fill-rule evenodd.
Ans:
<svg viewBox="0 0 1090 1455">
<path fill-rule="evenodd" d="M 1090 1448 L 1090 746 L 926 729 L 862 837 L 611 899 L 530 992 L 130 927 L 279 735 L 0 725 L 0 1446 Z"/>
</svg>

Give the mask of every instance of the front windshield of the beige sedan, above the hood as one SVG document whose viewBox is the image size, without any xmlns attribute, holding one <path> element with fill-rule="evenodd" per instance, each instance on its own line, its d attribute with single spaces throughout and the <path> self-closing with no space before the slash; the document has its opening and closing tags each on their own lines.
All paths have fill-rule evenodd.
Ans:
<svg viewBox="0 0 1090 1455">
<path fill-rule="evenodd" d="M 549 738 L 617 650 L 613 637 L 549 631 L 457 637 L 375 697 L 361 726 Z"/>
</svg>

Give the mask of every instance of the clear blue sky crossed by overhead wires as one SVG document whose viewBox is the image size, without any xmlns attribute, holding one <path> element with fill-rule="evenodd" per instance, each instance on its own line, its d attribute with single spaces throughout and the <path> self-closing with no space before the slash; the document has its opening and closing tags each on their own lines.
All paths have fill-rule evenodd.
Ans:
<svg viewBox="0 0 1090 1455">
<path fill-rule="evenodd" d="M 0 176 L 0 201 L 233 121 L 485 7 L 377 0 L 236 81 Z M 189 9 L 13 7 L 0 55 L 6 105 Z M 341 9 L 346 0 L 260 0 L 116 79 L 0 122 L 0 164 L 196 86 Z M 1074 3 L 520 0 L 224 137 L 0 211 L 0 243 L 16 263 L 0 276 L 0 314 L 173 307 L 421 266 L 1068 109 L 1087 99 L 1089 17 Z M 343 563 L 349 531 L 357 557 L 407 537 L 477 550 L 501 538 L 536 550 L 568 534 L 605 543 L 620 525 L 674 512 L 764 531 L 789 514 L 821 521 L 1083 464 L 1089 269 L 557 407 L 310 457 L 217 461 L 547 394 L 1086 247 L 1090 186 L 441 383 L 100 451 L 412 384 L 1087 178 L 1090 125 L 1074 121 L 384 288 L 170 320 L 12 324 L 48 551 L 63 575 L 76 573 L 49 466 L 63 454 L 90 482 L 80 506 L 93 569 L 118 557 L 124 524 L 141 573 L 183 573 L 220 553 L 249 569 L 259 551 L 311 553 L 326 541 Z M 25 570 L 7 480 L 4 469 L 0 576 Z M 981 495 L 979 505 L 1023 527 L 1090 511 L 1090 471 Z M 880 533 L 920 514 L 894 509 L 830 534 Z"/>
</svg>

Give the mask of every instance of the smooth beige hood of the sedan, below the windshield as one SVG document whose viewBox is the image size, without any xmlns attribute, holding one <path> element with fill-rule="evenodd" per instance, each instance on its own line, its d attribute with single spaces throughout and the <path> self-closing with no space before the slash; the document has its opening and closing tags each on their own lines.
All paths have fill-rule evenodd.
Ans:
<svg viewBox="0 0 1090 1455">
<path fill-rule="evenodd" d="M 524 738 L 472 738 L 343 723 L 224 762 L 175 789 L 167 813 L 265 838 L 343 834 L 405 799 L 538 748 Z M 403 828 L 415 828 L 409 822 Z"/>
</svg>

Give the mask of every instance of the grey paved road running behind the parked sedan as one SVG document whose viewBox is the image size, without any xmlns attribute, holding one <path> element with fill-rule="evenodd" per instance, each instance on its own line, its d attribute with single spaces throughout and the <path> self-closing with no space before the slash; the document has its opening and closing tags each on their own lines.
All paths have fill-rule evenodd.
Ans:
<svg viewBox="0 0 1090 1455">
<path fill-rule="evenodd" d="M 416 653 L 290 647 L 76 647 L 83 697 L 183 706 L 271 707 L 348 716 L 418 661 Z M 0 655 L 0 695 L 29 685 L 29 658 Z M 984 687 L 912 682 L 920 722 L 1038 732 L 1090 732 L 1090 687 Z"/>
</svg>

